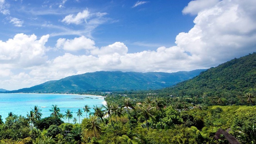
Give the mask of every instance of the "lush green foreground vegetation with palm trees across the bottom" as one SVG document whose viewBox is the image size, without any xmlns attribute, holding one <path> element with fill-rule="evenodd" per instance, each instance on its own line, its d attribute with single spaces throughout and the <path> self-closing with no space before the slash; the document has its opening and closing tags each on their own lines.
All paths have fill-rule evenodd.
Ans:
<svg viewBox="0 0 256 144">
<path fill-rule="evenodd" d="M 176 98 L 179 99 L 179 98 Z M 35 108 L 27 116 L 12 112 L 0 120 L 1 144 L 228 144 L 218 129 L 228 130 L 242 144 L 256 142 L 256 106 L 201 106 L 167 104 L 159 97 L 147 97 L 141 103 L 123 98 L 122 105 L 108 101 L 101 107 L 67 110 L 60 115 L 52 105 L 50 117 L 41 119 Z M 127 109 L 129 108 L 129 109 Z M 90 113 L 80 123 L 73 115 Z M 107 116 L 107 117 L 106 117 Z M 63 123 L 60 119 L 73 120 Z"/>
</svg>

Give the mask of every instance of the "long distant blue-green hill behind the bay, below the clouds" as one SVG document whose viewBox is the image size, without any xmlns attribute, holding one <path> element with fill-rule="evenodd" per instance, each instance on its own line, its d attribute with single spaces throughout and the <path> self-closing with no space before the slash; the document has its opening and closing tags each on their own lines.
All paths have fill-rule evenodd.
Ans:
<svg viewBox="0 0 256 144">
<path fill-rule="evenodd" d="M 200 74 L 205 69 L 190 72 L 121 72 L 100 71 L 69 76 L 60 80 L 48 81 L 30 88 L 9 93 L 78 93 L 86 91 L 148 90 L 169 87 Z"/>
</svg>

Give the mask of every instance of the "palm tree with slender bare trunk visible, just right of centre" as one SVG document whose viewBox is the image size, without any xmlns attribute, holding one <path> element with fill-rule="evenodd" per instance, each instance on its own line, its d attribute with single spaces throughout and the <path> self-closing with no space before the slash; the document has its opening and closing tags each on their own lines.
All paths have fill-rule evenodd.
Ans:
<svg viewBox="0 0 256 144">
<path fill-rule="evenodd" d="M 139 105 L 138 108 L 141 110 L 138 115 L 143 115 L 146 118 L 146 126 L 149 130 L 148 119 L 153 118 L 153 115 L 151 113 L 153 112 L 153 109 L 155 107 L 152 107 L 151 104 L 147 104 L 146 102 L 144 102 L 143 104 Z"/>
</svg>

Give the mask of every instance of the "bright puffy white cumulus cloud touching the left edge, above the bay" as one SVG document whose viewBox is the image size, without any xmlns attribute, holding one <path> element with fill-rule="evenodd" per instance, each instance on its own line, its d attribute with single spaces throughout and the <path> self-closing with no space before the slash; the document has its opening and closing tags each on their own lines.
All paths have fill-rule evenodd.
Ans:
<svg viewBox="0 0 256 144">
<path fill-rule="evenodd" d="M 1 68 L 28 68 L 41 65 L 46 60 L 45 43 L 49 35 L 37 40 L 35 35 L 17 34 L 6 42 L 0 41 Z"/>
</svg>

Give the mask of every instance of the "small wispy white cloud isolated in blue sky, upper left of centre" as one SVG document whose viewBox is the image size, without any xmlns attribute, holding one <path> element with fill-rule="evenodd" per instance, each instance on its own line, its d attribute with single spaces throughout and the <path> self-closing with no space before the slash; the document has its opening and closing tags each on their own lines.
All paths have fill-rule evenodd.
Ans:
<svg viewBox="0 0 256 144">
<path fill-rule="evenodd" d="M 70 14 L 67 15 L 65 18 L 62 19 L 62 22 L 66 24 L 81 24 L 83 22 L 88 23 L 90 21 L 99 21 L 99 18 L 103 17 L 107 13 L 90 13 L 88 10 L 83 10 L 82 12 L 78 12 L 76 15 Z"/>
</svg>

